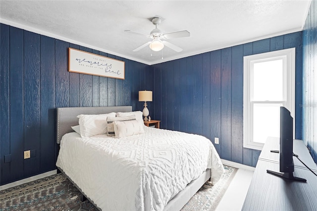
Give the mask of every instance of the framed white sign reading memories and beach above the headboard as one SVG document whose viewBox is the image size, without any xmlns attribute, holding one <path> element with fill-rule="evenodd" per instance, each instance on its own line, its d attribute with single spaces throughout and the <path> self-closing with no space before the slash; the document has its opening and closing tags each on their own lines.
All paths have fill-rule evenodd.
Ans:
<svg viewBox="0 0 317 211">
<path fill-rule="evenodd" d="M 124 61 L 69 48 L 68 71 L 124 79 Z"/>
</svg>

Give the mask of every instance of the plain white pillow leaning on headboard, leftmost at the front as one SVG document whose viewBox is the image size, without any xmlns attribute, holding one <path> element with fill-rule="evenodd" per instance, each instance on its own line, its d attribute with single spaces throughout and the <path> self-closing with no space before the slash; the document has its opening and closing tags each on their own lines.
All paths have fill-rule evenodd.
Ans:
<svg viewBox="0 0 317 211">
<path fill-rule="evenodd" d="M 107 132 L 107 116 L 115 117 L 115 112 L 97 115 L 80 114 L 80 135 L 82 138 L 91 137 Z"/>
</svg>

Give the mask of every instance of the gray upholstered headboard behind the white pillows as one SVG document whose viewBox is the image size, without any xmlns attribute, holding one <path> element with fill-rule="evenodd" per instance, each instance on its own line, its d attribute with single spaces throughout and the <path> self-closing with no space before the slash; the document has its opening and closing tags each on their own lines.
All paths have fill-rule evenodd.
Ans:
<svg viewBox="0 0 317 211">
<path fill-rule="evenodd" d="M 79 114 L 103 114 L 129 111 L 132 111 L 132 106 L 58 107 L 56 108 L 56 142 L 59 144 L 64 134 L 73 132 L 71 126 L 78 125 L 77 116 Z"/>
</svg>

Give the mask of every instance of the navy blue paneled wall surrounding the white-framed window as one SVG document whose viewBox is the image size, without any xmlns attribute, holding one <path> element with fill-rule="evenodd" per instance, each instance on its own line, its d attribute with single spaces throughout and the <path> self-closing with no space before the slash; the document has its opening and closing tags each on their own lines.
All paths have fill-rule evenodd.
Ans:
<svg viewBox="0 0 317 211">
<path fill-rule="evenodd" d="M 243 148 L 243 56 L 288 48 L 296 48 L 295 138 L 301 139 L 302 32 L 152 65 L 152 119 L 212 143 L 218 137 L 221 158 L 255 166 L 260 151 Z"/>
</svg>

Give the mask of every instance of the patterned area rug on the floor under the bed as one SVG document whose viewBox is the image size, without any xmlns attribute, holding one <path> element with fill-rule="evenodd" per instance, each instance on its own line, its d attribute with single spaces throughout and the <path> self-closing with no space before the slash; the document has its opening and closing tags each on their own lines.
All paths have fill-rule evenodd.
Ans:
<svg viewBox="0 0 317 211">
<path fill-rule="evenodd" d="M 220 180 L 204 186 L 182 211 L 213 211 L 234 177 L 237 168 L 224 165 Z M 97 211 L 61 173 L 0 191 L 0 211 Z"/>
</svg>

